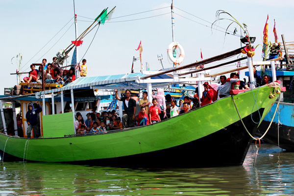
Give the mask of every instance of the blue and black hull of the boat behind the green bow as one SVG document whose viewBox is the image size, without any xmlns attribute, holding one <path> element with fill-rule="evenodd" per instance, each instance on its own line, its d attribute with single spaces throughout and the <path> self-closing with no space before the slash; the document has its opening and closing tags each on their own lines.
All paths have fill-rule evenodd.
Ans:
<svg viewBox="0 0 294 196">
<path fill-rule="evenodd" d="M 260 128 L 256 132 L 257 136 L 261 137 L 269 127 L 276 107 L 277 103 L 272 106 L 271 111 L 260 124 Z M 294 151 L 294 104 L 280 102 L 279 111 L 277 111 L 264 140 L 287 151 Z"/>
</svg>

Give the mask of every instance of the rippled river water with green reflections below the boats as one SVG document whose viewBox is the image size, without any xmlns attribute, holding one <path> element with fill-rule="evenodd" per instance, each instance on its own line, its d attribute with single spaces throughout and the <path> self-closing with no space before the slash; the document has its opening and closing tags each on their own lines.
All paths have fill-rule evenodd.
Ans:
<svg viewBox="0 0 294 196">
<path fill-rule="evenodd" d="M 243 166 L 222 168 L 127 169 L 1 162 L 0 195 L 291 196 L 294 153 L 279 153 L 278 147 L 263 144 L 256 156 L 253 145 Z"/>
</svg>

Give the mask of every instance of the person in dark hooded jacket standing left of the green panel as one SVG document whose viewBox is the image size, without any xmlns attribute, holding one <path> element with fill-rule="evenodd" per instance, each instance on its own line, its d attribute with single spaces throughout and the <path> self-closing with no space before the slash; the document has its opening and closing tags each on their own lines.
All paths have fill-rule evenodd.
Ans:
<svg viewBox="0 0 294 196">
<path fill-rule="evenodd" d="M 36 101 L 38 104 L 38 108 L 34 109 L 34 106 L 32 103 L 29 103 L 27 106 L 27 112 L 25 115 L 26 123 L 27 123 L 27 129 L 26 129 L 26 135 L 27 138 L 31 137 L 32 129 L 34 129 L 34 137 L 38 138 L 41 136 L 39 126 L 38 126 L 38 113 L 42 112 L 42 106 Z"/>
</svg>

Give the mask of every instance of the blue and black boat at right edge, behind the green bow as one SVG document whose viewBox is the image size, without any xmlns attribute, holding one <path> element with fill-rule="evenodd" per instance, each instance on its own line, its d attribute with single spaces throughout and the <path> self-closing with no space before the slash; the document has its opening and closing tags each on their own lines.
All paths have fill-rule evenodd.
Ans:
<svg viewBox="0 0 294 196">
<path fill-rule="evenodd" d="M 285 64 L 281 64 L 281 66 Z M 260 71 L 258 71 L 260 73 Z M 264 74 L 272 77 L 271 70 L 266 70 Z M 248 75 L 248 73 L 245 73 Z M 279 108 L 268 133 L 264 140 L 277 145 L 287 151 L 294 151 L 294 71 L 291 69 L 277 69 L 277 80 L 281 81 L 281 87 L 286 87 L 286 92 L 281 93 Z M 256 136 L 261 137 L 268 129 L 272 117 L 275 113 L 277 102 L 274 103 L 270 112 L 259 125 Z"/>
</svg>

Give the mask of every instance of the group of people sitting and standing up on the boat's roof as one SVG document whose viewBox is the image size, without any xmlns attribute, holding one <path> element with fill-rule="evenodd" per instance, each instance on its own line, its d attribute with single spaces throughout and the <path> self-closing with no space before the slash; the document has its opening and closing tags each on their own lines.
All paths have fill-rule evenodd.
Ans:
<svg viewBox="0 0 294 196">
<path fill-rule="evenodd" d="M 43 59 L 42 64 L 36 69 L 35 65 L 30 65 L 31 71 L 28 73 L 28 77 L 24 77 L 26 83 L 42 83 L 43 77 L 45 83 L 49 84 L 62 84 L 66 85 L 73 82 L 76 79 L 75 70 L 71 67 L 69 70 L 60 68 L 56 63 L 57 57 L 53 57 L 53 62 L 47 64 L 47 59 Z M 82 60 L 80 66 L 80 76 L 85 77 L 87 75 L 86 59 Z M 44 69 L 42 75 L 42 67 Z"/>
</svg>

